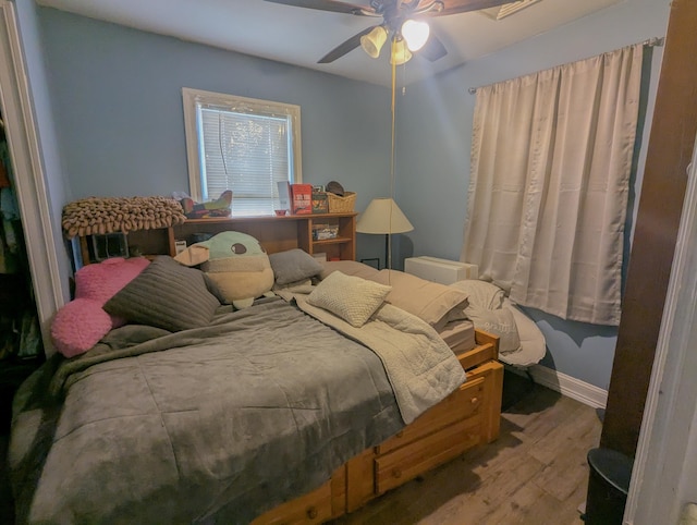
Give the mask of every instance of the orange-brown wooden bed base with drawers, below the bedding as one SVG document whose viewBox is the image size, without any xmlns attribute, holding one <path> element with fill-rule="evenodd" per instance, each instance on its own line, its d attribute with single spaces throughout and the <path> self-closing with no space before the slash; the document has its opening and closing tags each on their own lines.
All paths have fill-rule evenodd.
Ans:
<svg viewBox="0 0 697 525">
<path fill-rule="evenodd" d="M 455 351 L 467 373 L 460 389 L 392 438 L 343 464 L 321 487 L 267 512 L 254 525 L 323 523 L 497 439 L 503 389 L 499 339 L 477 330 L 476 342 L 469 351 Z"/>
</svg>

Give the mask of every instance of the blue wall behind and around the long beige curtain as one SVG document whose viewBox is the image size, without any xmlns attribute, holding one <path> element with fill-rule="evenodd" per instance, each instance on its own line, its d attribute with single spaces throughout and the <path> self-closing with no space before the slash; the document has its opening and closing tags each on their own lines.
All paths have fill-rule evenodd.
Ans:
<svg viewBox="0 0 697 525">
<path fill-rule="evenodd" d="M 398 110 L 401 134 L 398 195 L 400 206 L 415 227 L 406 234 L 414 255 L 460 258 L 475 106 L 469 87 L 664 36 L 669 13 L 670 0 L 625 0 L 409 86 L 406 96 L 400 98 Z M 662 49 L 652 48 L 651 54 L 648 117 L 635 176 L 637 188 L 641 181 Z M 404 252 L 408 253 L 408 249 Z M 528 314 L 547 337 L 548 355 L 543 365 L 601 389 L 608 388 L 616 343 L 615 328 L 567 322 L 535 310 Z"/>
</svg>

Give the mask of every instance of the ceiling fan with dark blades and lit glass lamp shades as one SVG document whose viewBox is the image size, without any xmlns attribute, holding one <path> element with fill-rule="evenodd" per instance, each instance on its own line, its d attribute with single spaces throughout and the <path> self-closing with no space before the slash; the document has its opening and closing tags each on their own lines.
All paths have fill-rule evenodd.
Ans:
<svg viewBox="0 0 697 525">
<path fill-rule="evenodd" d="M 380 24 L 367 27 L 352 36 L 325 54 L 317 63 L 327 64 L 333 62 L 359 46 L 372 58 L 377 58 L 380 53 L 380 48 L 390 37 L 390 41 L 395 46 L 391 58 L 400 64 L 406 62 L 412 57 L 411 51 L 416 51 L 417 49 L 420 49 L 419 54 L 431 62 L 448 54 L 448 50 L 440 39 L 432 34 L 429 35 L 428 24 L 424 22 L 424 19 L 496 8 L 513 0 L 370 0 L 368 5 L 338 0 L 266 1 L 356 16 L 381 17 L 382 22 Z M 407 22 L 408 24 L 405 26 Z M 408 36 L 408 25 L 421 33 Z M 414 45 L 412 45 L 412 40 L 415 41 Z M 423 47 L 419 48 L 418 44 Z"/>
</svg>

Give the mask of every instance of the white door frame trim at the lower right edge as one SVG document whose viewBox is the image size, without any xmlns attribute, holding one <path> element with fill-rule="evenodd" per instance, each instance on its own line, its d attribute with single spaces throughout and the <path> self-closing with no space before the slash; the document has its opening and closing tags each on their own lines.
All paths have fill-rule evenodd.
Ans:
<svg viewBox="0 0 697 525">
<path fill-rule="evenodd" d="M 677 523 L 697 501 L 697 138 L 624 523 Z"/>
</svg>

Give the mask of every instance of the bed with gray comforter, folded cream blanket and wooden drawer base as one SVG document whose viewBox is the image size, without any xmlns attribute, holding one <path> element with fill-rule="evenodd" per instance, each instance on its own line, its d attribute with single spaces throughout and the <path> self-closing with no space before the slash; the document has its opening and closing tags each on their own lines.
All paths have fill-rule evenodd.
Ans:
<svg viewBox="0 0 697 525">
<path fill-rule="evenodd" d="M 180 266 L 158 256 L 115 297 L 138 290 L 124 303 L 145 302 L 146 319 L 181 302 L 191 322 L 191 294 L 209 283 L 187 268 L 194 290 Z M 442 289 L 427 312 L 395 274 L 358 326 L 318 306 L 314 292 L 346 288 L 335 279 L 384 286 L 362 272 L 328 264 L 314 286 L 218 302 L 185 329 L 133 314 L 89 351 L 51 357 L 14 401 L 17 523 L 321 523 L 496 439 L 498 338 Z"/>
</svg>

